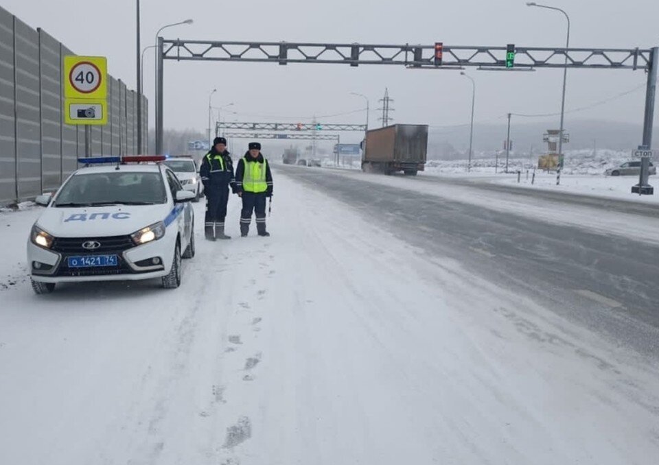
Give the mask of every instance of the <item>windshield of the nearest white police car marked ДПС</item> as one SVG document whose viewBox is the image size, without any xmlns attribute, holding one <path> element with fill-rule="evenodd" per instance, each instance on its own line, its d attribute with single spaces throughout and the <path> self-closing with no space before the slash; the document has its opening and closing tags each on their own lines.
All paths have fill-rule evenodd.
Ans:
<svg viewBox="0 0 659 465">
<path fill-rule="evenodd" d="M 160 173 L 117 171 L 72 176 L 62 186 L 54 206 L 152 205 L 166 200 Z"/>
</svg>

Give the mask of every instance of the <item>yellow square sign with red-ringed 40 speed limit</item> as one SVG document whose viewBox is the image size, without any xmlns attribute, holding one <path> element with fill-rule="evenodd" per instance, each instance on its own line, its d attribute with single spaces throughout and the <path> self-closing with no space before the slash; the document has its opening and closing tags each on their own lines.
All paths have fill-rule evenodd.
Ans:
<svg viewBox="0 0 659 465">
<path fill-rule="evenodd" d="M 68 99 L 107 97 L 107 60 L 103 56 L 65 56 L 63 78 Z"/>
</svg>

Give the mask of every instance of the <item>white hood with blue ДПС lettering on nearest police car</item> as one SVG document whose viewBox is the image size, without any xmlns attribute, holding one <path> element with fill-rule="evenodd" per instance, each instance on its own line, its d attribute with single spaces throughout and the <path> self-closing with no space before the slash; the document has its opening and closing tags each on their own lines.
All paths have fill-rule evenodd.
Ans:
<svg viewBox="0 0 659 465">
<path fill-rule="evenodd" d="M 122 236 L 157 223 L 168 213 L 167 204 L 48 207 L 36 224 L 54 237 Z"/>
</svg>

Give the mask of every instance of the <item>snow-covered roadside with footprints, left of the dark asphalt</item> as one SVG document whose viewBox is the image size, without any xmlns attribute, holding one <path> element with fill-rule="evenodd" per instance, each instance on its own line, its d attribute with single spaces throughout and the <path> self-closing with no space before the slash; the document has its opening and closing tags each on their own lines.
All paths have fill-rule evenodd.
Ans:
<svg viewBox="0 0 659 465">
<path fill-rule="evenodd" d="M 197 222 L 175 291 L 34 296 L 38 210 L 0 214 L 0 464 L 656 463 L 656 359 L 275 176 L 273 237 Z"/>
</svg>

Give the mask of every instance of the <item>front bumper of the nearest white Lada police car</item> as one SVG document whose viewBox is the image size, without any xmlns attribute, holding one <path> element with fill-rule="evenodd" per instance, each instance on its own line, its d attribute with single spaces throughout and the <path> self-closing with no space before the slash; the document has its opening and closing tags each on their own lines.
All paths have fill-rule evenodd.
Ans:
<svg viewBox="0 0 659 465">
<path fill-rule="evenodd" d="M 104 240 L 108 238 L 98 239 Z M 126 248 L 125 250 L 82 252 L 62 248 L 49 250 L 35 246 L 34 243 L 28 240 L 27 265 L 30 267 L 30 276 L 32 279 L 43 283 L 139 281 L 159 278 L 170 272 L 174 254 L 174 246 L 171 242 L 171 240 L 168 240 L 167 235 L 165 235 L 165 237 L 157 241 L 152 241 L 142 246 L 130 246 L 130 248 Z M 113 267 L 68 267 L 68 257 L 97 254 L 116 254 L 119 258 L 119 263 Z M 152 263 L 152 259 L 154 258 L 159 259 L 158 264 Z M 35 266 L 36 262 L 39 264 L 38 267 Z"/>
</svg>

